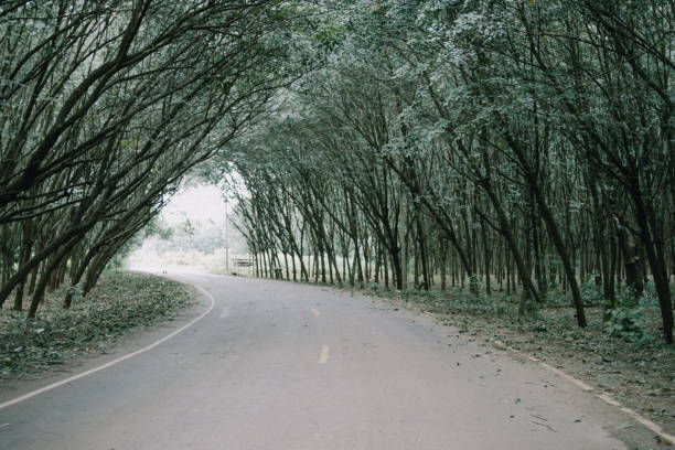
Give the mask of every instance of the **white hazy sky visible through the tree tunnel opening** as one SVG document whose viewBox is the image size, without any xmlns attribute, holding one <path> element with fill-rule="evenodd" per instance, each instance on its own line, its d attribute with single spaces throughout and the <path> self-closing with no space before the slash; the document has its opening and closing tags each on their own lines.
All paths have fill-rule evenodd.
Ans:
<svg viewBox="0 0 675 450">
<path fill-rule="evenodd" d="M 180 224 L 185 217 L 191 222 L 219 224 L 225 222 L 225 200 L 214 185 L 186 188 L 171 199 L 161 214 L 169 225 Z"/>
</svg>

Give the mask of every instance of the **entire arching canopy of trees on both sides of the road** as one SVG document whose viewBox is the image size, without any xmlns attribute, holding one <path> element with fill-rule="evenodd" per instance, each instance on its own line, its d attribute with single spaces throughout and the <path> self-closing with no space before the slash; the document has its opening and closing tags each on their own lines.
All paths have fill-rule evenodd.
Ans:
<svg viewBox="0 0 675 450">
<path fill-rule="evenodd" d="M 8 1 L 0 301 L 86 280 L 195 164 L 258 275 L 658 298 L 672 343 L 663 0 Z M 213 157 L 213 158 L 212 158 Z M 310 258 L 311 256 L 311 258 Z M 282 264 L 283 260 L 283 264 Z M 69 304 L 66 299 L 66 306 Z"/>
</svg>

